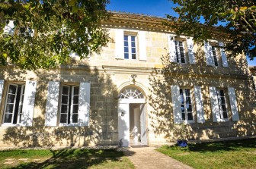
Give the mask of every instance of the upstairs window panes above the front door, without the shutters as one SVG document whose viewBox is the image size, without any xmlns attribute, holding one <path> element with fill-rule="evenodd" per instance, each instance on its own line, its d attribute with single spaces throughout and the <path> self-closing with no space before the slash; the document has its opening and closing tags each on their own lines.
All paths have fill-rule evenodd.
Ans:
<svg viewBox="0 0 256 169">
<path fill-rule="evenodd" d="M 136 36 L 123 36 L 124 58 L 136 59 Z"/>
</svg>

